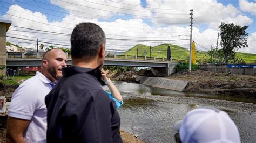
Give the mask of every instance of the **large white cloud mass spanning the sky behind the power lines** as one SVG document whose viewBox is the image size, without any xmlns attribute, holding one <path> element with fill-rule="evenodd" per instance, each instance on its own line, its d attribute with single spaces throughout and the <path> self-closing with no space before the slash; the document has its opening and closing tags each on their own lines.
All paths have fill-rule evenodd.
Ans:
<svg viewBox="0 0 256 143">
<path fill-rule="evenodd" d="M 116 1 L 116 0 L 115 0 Z M 65 3 L 69 2 L 69 3 Z M 140 5 L 140 1 L 116 1 L 122 3 L 114 3 L 111 1 L 53 1 L 51 3 L 61 6 L 65 9 L 72 9 L 68 10 L 69 14 L 63 17 L 60 21 L 50 21 L 49 19 L 40 12 L 32 12 L 31 10 L 24 9 L 18 5 L 12 5 L 7 12 L 9 15 L 4 15 L 2 18 L 8 20 L 12 20 L 12 25 L 21 26 L 21 27 L 28 27 L 28 28 L 35 28 L 38 30 L 45 30 L 45 31 L 52 31 L 52 32 L 60 32 L 60 33 L 68 33 L 71 34 L 73 27 L 80 22 L 92 22 L 100 25 L 106 33 L 107 38 L 114 38 L 114 39 L 136 39 L 136 40 L 158 40 L 158 41 L 123 41 L 123 40 L 110 40 L 107 39 L 106 48 L 109 49 L 129 49 L 136 44 L 145 44 L 148 46 L 156 46 L 164 42 L 171 42 L 173 44 L 178 44 L 187 48 L 189 46 L 190 40 L 182 40 L 182 41 L 167 41 L 167 40 L 180 40 L 180 39 L 189 39 L 190 35 L 190 27 L 189 26 L 179 26 L 179 25 L 190 25 L 190 15 L 173 15 L 173 13 L 187 13 L 189 14 L 189 9 L 194 10 L 194 27 L 193 27 L 193 40 L 196 41 L 201 46 L 197 45 L 197 49 L 206 50 L 211 49 L 211 45 L 215 47 L 217 42 L 217 35 L 218 35 L 218 26 L 220 25 L 221 21 L 225 23 L 235 23 L 238 25 L 248 25 L 253 22 L 253 20 L 246 16 L 242 15 L 242 13 L 235 8 L 233 5 L 224 6 L 217 1 L 197 1 L 191 2 L 188 0 L 184 1 L 163 1 L 163 0 L 150 0 L 146 1 L 147 6 L 159 9 L 151 9 L 151 8 L 143 8 L 142 6 L 134 6 Z M 93 3 L 91 3 L 93 2 Z M 73 5 L 70 3 L 76 3 L 78 6 Z M 100 3 L 102 5 L 98 5 L 95 3 Z M 123 9 L 113 8 L 110 6 L 104 5 L 111 5 L 116 6 Z M 131 5 L 128 5 L 131 4 Z M 85 7 L 87 6 L 87 7 Z M 91 8 L 103 9 L 91 9 Z M 133 9 L 127 10 L 127 9 Z M 187 9 L 187 11 L 171 11 L 171 10 L 163 10 L 163 9 Z M 16 11 L 14 11 L 16 10 Z M 76 10 L 76 11 L 73 11 Z M 17 12 L 18 11 L 18 12 Z M 81 11 L 81 12 L 78 12 Z M 132 15 L 143 15 L 143 16 L 152 16 L 150 19 L 143 19 L 140 16 L 123 16 L 119 18 L 112 18 L 114 20 L 110 20 L 110 17 L 121 15 L 120 13 L 117 14 L 116 11 L 120 13 L 130 13 Z M 83 13 L 86 12 L 86 13 Z M 27 13 L 27 14 L 25 14 Z M 91 13 L 92 15 L 88 14 Z M 170 14 L 163 14 L 163 13 L 172 13 Z M 11 16 L 14 15 L 14 16 Z M 55 15 L 53 13 L 53 15 Z M 30 19 L 22 19 L 18 17 Z M 154 17 L 173 17 L 173 18 L 154 18 Z M 187 19 L 178 19 L 181 17 L 187 17 Z M 127 19 L 129 18 L 129 19 Z M 177 18 L 177 19 L 175 19 Z M 99 20 L 100 19 L 100 20 Z M 33 20 L 33 21 L 31 21 Z M 150 21 L 146 22 L 146 21 Z M 201 23 L 201 21 L 204 22 Z M 45 23 L 45 24 L 42 24 Z M 163 24 L 169 23 L 169 24 Z M 174 24 L 170 24 L 174 23 Z M 184 23 L 184 24 L 177 24 L 177 23 Z M 199 24 L 198 24 L 199 23 Z M 48 24 L 48 25 L 46 25 Z M 50 26 L 56 25 L 56 26 Z M 66 28 L 63 28 L 66 27 Z M 12 30 L 19 29 L 16 27 L 11 27 Z M 68 36 L 60 36 L 60 35 L 45 35 L 45 34 L 37 34 L 37 33 L 26 33 L 26 32 L 18 32 L 18 31 L 8 31 L 8 34 L 18 34 L 18 35 L 25 35 L 28 37 L 26 39 L 33 39 L 39 38 L 39 41 L 48 41 L 48 42 L 62 42 L 63 45 L 70 45 L 70 37 Z M 19 37 L 18 35 L 14 37 Z M 248 38 L 248 45 L 250 47 L 255 48 L 255 33 L 251 34 Z M 44 39 L 46 38 L 46 39 Z M 56 40 L 49 40 L 49 39 L 56 39 Z M 19 42 L 21 40 L 8 38 L 10 41 Z M 32 42 L 32 41 L 27 41 Z M 36 42 L 32 42 L 35 43 Z M 24 43 L 23 43 L 24 44 Z M 45 44 L 51 45 L 51 44 Z M 31 45 L 22 45 L 22 46 L 31 46 Z M 32 47 L 35 47 L 33 45 Z M 65 46 L 62 46 L 65 47 Z M 206 49 L 205 49 L 206 48 Z M 254 52 L 253 49 L 248 49 L 247 52 Z M 255 52 L 254 52 L 255 53 Z"/>
</svg>

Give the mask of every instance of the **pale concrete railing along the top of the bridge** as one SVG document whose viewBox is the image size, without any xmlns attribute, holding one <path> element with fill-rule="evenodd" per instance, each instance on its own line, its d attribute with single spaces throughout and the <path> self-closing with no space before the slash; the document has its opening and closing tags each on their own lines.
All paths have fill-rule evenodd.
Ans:
<svg viewBox="0 0 256 143">
<path fill-rule="evenodd" d="M 43 58 L 43 53 L 15 53 L 15 52 L 8 52 L 6 53 L 6 58 L 11 59 L 21 59 L 21 58 Z M 71 58 L 71 56 L 66 53 L 66 55 Z M 137 56 L 137 55 L 116 55 L 116 54 L 109 54 L 105 57 L 106 59 L 127 59 L 127 60 L 150 60 L 150 61 L 171 61 L 171 62 L 187 62 L 187 60 L 180 60 L 180 59 L 170 59 L 167 60 L 165 58 L 157 58 L 157 57 L 149 57 L 149 56 Z"/>
</svg>

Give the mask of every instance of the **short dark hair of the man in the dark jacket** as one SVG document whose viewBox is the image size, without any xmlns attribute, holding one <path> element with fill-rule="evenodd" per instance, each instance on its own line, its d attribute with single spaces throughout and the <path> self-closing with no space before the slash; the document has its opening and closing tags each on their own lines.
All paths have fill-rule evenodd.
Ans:
<svg viewBox="0 0 256 143">
<path fill-rule="evenodd" d="M 97 24 L 80 23 L 71 35 L 71 56 L 90 59 L 97 54 L 100 45 L 105 42 L 105 33 Z"/>
</svg>

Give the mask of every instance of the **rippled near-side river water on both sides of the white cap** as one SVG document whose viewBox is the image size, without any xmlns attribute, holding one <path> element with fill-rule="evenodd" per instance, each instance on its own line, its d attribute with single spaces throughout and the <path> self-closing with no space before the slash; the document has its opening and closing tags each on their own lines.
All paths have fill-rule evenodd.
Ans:
<svg viewBox="0 0 256 143">
<path fill-rule="evenodd" d="M 139 135 L 147 142 L 174 142 L 176 133 L 172 126 L 183 119 L 196 105 L 173 104 L 142 98 L 124 97 L 119 109 L 121 128 Z M 225 112 L 238 126 L 242 142 L 254 142 L 256 138 L 256 115 L 245 112 Z"/>
</svg>

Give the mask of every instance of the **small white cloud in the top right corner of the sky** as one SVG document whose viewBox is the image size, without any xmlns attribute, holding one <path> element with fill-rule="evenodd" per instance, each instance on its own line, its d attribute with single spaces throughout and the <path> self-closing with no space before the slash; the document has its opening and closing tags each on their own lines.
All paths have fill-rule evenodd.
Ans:
<svg viewBox="0 0 256 143">
<path fill-rule="evenodd" d="M 247 0 L 240 0 L 239 1 L 240 9 L 244 12 L 250 12 L 252 13 L 252 15 L 256 15 L 256 3 L 254 2 L 248 2 Z"/>
</svg>

